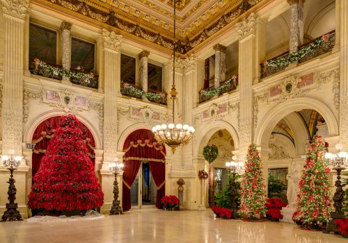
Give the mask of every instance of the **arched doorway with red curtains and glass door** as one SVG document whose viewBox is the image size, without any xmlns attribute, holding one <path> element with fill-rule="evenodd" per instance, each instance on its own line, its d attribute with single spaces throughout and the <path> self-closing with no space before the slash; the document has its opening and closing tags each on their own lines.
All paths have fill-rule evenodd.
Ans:
<svg viewBox="0 0 348 243">
<path fill-rule="evenodd" d="M 122 208 L 141 208 L 144 204 L 161 208 L 165 194 L 166 149 L 157 144 L 148 129 L 129 134 L 123 144 Z"/>
</svg>

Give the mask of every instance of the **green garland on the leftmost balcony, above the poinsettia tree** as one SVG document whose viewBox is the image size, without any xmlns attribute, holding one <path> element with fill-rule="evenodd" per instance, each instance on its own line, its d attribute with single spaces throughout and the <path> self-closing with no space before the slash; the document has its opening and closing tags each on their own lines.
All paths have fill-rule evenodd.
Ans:
<svg viewBox="0 0 348 243">
<path fill-rule="evenodd" d="M 94 69 L 91 69 L 89 74 L 85 74 L 83 72 L 71 72 L 69 70 L 63 70 L 61 69 L 61 67 L 53 67 L 38 58 L 34 58 L 34 62 L 35 62 L 36 72 L 38 71 L 38 68 L 40 67 L 45 72 L 50 72 L 54 74 L 54 76 L 65 76 L 67 78 L 77 78 L 81 83 L 90 83 L 90 81 L 93 78 L 95 78 Z"/>
</svg>

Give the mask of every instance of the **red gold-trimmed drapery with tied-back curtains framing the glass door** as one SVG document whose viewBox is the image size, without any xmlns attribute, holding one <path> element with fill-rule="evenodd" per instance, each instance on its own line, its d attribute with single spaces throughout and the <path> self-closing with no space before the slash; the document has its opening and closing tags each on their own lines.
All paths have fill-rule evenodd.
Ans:
<svg viewBox="0 0 348 243">
<path fill-rule="evenodd" d="M 157 144 L 151 131 L 139 129 L 131 133 L 123 144 L 123 185 L 122 208 L 127 211 L 131 208 L 130 188 L 138 174 L 141 161 L 149 161 L 152 177 L 157 186 L 157 208 L 161 208 L 161 198 L 164 196 L 166 176 L 166 149 Z"/>
</svg>

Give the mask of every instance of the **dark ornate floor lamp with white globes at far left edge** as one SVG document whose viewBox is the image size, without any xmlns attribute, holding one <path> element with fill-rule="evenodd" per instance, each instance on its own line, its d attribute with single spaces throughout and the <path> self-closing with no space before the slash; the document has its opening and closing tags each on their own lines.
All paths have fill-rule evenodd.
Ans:
<svg viewBox="0 0 348 243">
<path fill-rule="evenodd" d="M 8 167 L 7 169 L 10 171 L 10 179 L 7 182 L 9 184 L 7 192 L 9 203 L 6 203 L 6 211 L 3 213 L 3 216 L 1 217 L 1 222 L 7 220 L 22 221 L 22 215 L 20 215 L 19 211 L 17 210 L 18 206 L 17 203 L 15 203 L 17 189 L 15 187 L 16 181 L 13 178 L 13 171 L 15 171 L 17 167 L 20 165 L 22 161 L 22 156 L 13 156 L 13 153 L 15 153 L 13 149 L 10 149 L 10 151 L 8 152 L 10 153 L 10 156 L 1 156 L 3 165 Z"/>
</svg>

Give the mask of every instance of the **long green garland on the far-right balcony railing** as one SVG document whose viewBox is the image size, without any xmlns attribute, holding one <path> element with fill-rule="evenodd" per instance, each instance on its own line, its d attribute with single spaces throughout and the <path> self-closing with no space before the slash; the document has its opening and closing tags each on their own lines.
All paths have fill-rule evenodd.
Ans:
<svg viewBox="0 0 348 243">
<path fill-rule="evenodd" d="M 285 67 L 292 62 L 296 62 L 303 58 L 303 56 L 306 56 L 308 53 L 314 51 L 323 44 L 326 44 L 329 40 L 329 37 L 330 34 L 327 33 L 326 35 L 323 35 L 320 39 L 317 39 L 313 43 L 308 44 L 307 46 L 299 49 L 299 51 L 290 53 L 289 55 L 284 56 L 283 58 L 267 60 L 264 62 L 264 69 L 266 69 L 267 67 Z"/>
</svg>

